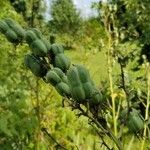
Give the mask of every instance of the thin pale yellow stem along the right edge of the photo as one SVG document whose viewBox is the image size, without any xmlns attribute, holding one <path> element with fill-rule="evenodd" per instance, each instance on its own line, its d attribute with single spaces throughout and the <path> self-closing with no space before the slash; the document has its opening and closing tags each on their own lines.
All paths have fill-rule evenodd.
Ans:
<svg viewBox="0 0 150 150">
<path fill-rule="evenodd" d="M 145 112 L 145 124 L 144 124 L 144 131 L 143 131 L 143 140 L 141 150 L 144 150 L 145 140 L 146 140 L 146 132 L 147 132 L 147 124 L 146 121 L 149 118 L 149 107 L 150 107 L 150 71 L 148 67 L 147 73 L 147 104 L 146 104 L 146 112 Z"/>
</svg>

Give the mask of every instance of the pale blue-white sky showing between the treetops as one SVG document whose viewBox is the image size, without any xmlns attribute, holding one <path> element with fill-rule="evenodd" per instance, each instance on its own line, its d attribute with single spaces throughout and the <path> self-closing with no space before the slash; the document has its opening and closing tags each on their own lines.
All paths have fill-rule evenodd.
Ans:
<svg viewBox="0 0 150 150">
<path fill-rule="evenodd" d="M 98 2 L 99 0 L 73 0 L 74 4 L 76 5 L 77 9 L 81 12 L 81 16 L 83 18 L 87 18 L 93 14 L 96 14 L 94 10 L 91 9 L 92 2 Z M 50 0 L 45 0 L 47 6 L 50 4 Z M 46 18 L 49 18 L 50 15 L 48 14 L 49 7 L 46 13 Z"/>
</svg>

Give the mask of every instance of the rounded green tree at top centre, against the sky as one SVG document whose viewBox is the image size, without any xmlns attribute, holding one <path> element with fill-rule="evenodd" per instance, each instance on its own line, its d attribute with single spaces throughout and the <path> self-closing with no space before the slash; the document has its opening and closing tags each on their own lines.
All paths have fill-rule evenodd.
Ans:
<svg viewBox="0 0 150 150">
<path fill-rule="evenodd" d="M 50 27 L 53 32 L 75 34 L 81 26 L 81 17 L 72 0 L 53 0 Z"/>
</svg>

